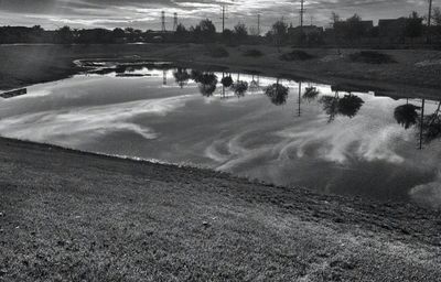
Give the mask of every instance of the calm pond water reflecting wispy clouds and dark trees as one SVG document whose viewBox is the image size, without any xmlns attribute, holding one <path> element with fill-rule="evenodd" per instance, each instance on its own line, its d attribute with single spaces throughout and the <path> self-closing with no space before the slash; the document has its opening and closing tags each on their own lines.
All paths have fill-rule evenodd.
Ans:
<svg viewBox="0 0 441 282">
<path fill-rule="evenodd" d="M 419 150 L 421 99 L 245 74 L 232 74 L 244 84 L 223 87 L 227 73 L 166 68 L 119 67 L 29 87 L 0 100 L 0 134 L 441 205 L 438 101 L 424 100 Z"/>
</svg>

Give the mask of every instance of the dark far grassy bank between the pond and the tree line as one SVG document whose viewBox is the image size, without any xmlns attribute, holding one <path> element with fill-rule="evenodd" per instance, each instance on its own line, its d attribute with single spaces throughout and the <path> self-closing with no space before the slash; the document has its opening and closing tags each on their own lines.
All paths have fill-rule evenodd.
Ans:
<svg viewBox="0 0 441 282">
<path fill-rule="evenodd" d="M 363 57 L 354 59 L 359 58 L 356 50 L 342 50 L 341 55 L 337 55 L 336 50 L 304 50 L 300 58 L 305 56 L 308 59 L 297 59 L 290 47 L 282 48 L 280 53 L 271 46 L 222 47 L 222 53 L 219 52 L 218 47 L 196 44 L 3 45 L 0 46 L 0 61 L 3 62 L 0 66 L 0 89 L 65 78 L 80 70 L 72 63 L 74 59 L 125 56 L 216 64 L 235 69 L 259 70 L 273 76 L 305 77 L 325 83 L 351 80 L 353 84 L 375 86 L 395 84 L 405 89 L 408 86 L 441 87 L 439 51 L 378 51 L 380 55 L 390 58 L 386 64 L 374 64 L 375 59 L 368 61 Z M 294 51 L 294 54 L 295 52 L 299 53 Z M 287 57 L 290 59 L 286 59 Z"/>
</svg>

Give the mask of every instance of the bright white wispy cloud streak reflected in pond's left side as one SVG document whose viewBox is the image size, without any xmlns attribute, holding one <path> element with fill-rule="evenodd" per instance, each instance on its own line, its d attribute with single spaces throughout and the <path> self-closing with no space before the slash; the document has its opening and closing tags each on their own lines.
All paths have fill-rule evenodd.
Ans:
<svg viewBox="0 0 441 282">
<path fill-rule="evenodd" d="M 132 132 L 144 139 L 158 134 L 133 120 L 143 115 L 164 116 L 183 107 L 190 96 L 137 100 L 95 107 L 24 113 L 0 120 L 2 135 L 78 147 L 111 132 Z"/>
</svg>

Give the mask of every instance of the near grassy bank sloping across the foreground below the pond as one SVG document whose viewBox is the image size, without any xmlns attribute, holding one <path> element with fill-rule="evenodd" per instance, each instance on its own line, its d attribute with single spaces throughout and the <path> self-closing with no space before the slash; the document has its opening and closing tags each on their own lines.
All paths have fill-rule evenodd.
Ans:
<svg viewBox="0 0 441 282">
<path fill-rule="evenodd" d="M 440 214 L 0 139 L 2 281 L 438 281 Z"/>
</svg>

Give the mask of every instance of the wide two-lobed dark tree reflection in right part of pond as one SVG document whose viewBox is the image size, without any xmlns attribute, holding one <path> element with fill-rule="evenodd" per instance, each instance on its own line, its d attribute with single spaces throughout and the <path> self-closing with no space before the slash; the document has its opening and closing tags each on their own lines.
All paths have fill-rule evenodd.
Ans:
<svg viewBox="0 0 441 282">
<path fill-rule="evenodd" d="M 319 101 L 323 105 L 326 115 L 330 116 L 327 122 L 332 122 L 337 115 L 355 117 L 364 104 L 362 98 L 353 94 L 340 98 L 338 91 L 335 91 L 335 96 L 323 96 Z"/>
</svg>

